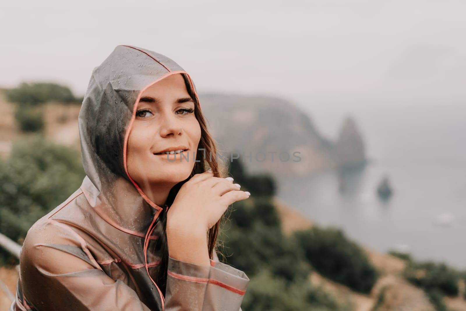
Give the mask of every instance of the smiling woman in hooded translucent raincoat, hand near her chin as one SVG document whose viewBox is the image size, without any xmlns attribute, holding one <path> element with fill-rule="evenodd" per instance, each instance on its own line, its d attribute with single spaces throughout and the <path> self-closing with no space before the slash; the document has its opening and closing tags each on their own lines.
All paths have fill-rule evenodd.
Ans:
<svg viewBox="0 0 466 311">
<path fill-rule="evenodd" d="M 215 243 L 249 193 L 219 177 L 190 76 L 117 46 L 93 70 L 79 133 L 87 176 L 27 232 L 11 310 L 240 310 L 249 278 Z"/>
</svg>

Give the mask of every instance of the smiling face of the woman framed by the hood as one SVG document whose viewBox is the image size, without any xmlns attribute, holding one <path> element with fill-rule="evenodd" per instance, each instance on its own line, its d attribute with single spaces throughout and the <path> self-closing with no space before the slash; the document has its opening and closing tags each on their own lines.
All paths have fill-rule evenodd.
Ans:
<svg viewBox="0 0 466 311">
<path fill-rule="evenodd" d="M 141 95 L 127 151 L 128 173 L 140 187 L 175 185 L 189 177 L 201 137 L 194 109 L 181 74 L 164 78 Z M 185 151 L 176 153 L 180 149 Z M 176 152 L 158 154 L 163 151 Z"/>
</svg>

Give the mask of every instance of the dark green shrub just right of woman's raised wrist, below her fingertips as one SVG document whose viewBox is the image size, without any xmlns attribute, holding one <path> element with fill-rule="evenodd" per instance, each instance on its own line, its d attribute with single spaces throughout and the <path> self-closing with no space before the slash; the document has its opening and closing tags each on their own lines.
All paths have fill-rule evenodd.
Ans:
<svg viewBox="0 0 466 311">
<path fill-rule="evenodd" d="M 229 219 L 230 226 L 222 228 L 219 238 L 229 264 L 248 276 L 267 268 L 290 283 L 308 277 L 310 266 L 295 240 L 282 234 L 270 198 L 251 196 L 234 203 Z"/>
</svg>

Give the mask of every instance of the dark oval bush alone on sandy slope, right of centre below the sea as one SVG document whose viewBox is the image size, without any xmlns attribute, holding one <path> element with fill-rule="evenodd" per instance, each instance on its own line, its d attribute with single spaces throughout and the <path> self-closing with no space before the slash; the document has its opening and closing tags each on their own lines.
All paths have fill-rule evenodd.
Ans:
<svg viewBox="0 0 466 311">
<path fill-rule="evenodd" d="M 369 293 L 377 271 L 363 249 L 337 229 L 313 227 L 297 231 L 294 237 L 315 270 L 349 288 Z"/>
</svg>

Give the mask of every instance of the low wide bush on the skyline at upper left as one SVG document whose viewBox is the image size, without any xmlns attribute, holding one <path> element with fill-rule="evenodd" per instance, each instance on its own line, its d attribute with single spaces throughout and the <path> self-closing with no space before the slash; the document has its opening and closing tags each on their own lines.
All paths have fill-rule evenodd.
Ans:
<svg viewBox="0 0 466 311">
<path fill-rule="evenodd" d="M 68 87 L 55 83 L 21 83 L 6 91 L 8 101 L 18 104 L 38 105 L 48 101 L 79 103 Z"/>
</svg>

